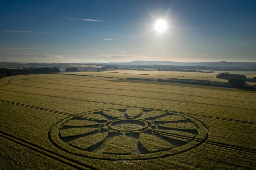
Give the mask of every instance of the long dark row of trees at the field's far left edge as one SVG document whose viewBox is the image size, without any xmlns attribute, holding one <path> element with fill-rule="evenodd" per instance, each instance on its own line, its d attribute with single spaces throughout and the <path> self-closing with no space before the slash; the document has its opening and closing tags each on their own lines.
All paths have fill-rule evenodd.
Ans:
<svg viewBox="0 0 256 170">
<path fill-rule="evenodd" d="M 6 69 L 0 68 L 0 77 L 14 76 L 22 74 L 40 74 L 40 73 L 59 73 L 60 70 L 56 67 L 43 67 L 43 68 L 22 68 L 22 69 Z"/>
</svg>

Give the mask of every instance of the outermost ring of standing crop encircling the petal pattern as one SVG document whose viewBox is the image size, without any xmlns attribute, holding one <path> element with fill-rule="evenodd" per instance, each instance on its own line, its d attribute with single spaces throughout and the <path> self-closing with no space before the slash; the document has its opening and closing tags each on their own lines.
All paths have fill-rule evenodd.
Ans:
<svg viewBox="0 0 256 170">
<path fill-rule="evenodd" d="M 101 112 L 101 111 L 107 111 L 107 110 L 119 110 L 119 109 L 143 109 L 143 110 L 155 110 L 155 111 L 164 111 L 164 112 L 169 112 L 169 113 L 174 113 L 176 115 L 180 115 L 184 118 L 187 118 L 189 120 L 191 120 L 197 127 L 197 129 L 199 129 L 199 134 L 197 135 L 197 137 L 195 139 L 193 139 L 192 141 L 190 141 L 188 144 L 182 145 L 180 147 L 171 149 L 171 150 L 167 150 L 167 151 L 160 151 L 160 152 L 154 152 L 154 153 L 148 153 L 148 154 L 138 154 L 138 155 L 112 155 L 112 154 L 101 154 L 101 153 L 95 153 L 95 152 L 87 152 L 87 151 L 83 151 L 77 148 L 74 148 L 70 145 L 68 145 L 67 143 L 64 143 L 60 137 L 59 137 L 59 129 L 61 128 L 61 126 L 63 124 L 65 124 L 66 122 L 68 122 L 69 120 L 73 119 L 74 116 L 83 116 L 83 115 L 87 115 L 90 113 L 95 113 L 95 112 Z M 89 112 L 85 112 L 85 113 L 81 113 L 78 115 L 74 115 L 74 116 L 69 116 L 67 118 L 64 118 L 62 120 L 60 120 L 59 122 L 55 123 L 52 126 L 52 129 L 49 130 L 48 132 L 48 137 L 49 140 L 52 142 L 52 144 L 59 148 L 60 150 L 76 155 L 76 156 L 81 156 L 81 157 L 85 157 L 85 158 L 92 158 L 92 159 L 103 159 L 103 160 L 116 160 L 116 159 L 133 159 L 133 160 L 146 160 L 146 159 L 156 159 L 156 158 L 164 158 L 164 157 L 168 157 L 168 156 L 173 156 L 173 155 L 177 155 L 183 152 L 187 152 L 191 149 L 194 149 L 195 147 L 200 146 L 201 144 L 203 144 L 207 139 L 208 139 L 208 129 L 206 127 L 206 125 L 201 122 L 200 120 L 193 118 L 191 116 L 182 114 L 182 113 L 177 113 L 174 111 L 169 111 L 169 110 L 161 110 L 161 109 L 152 109 L 152 108 L 141 108 L 141 107 L 125 107 L 125 108 L 110 108 L 110 109 L 101 109 L 101 110 L 94 110 L 94 111 L 89 111 Z M 182 149 L 180 149 L 182 148 Z"/>
</svg>

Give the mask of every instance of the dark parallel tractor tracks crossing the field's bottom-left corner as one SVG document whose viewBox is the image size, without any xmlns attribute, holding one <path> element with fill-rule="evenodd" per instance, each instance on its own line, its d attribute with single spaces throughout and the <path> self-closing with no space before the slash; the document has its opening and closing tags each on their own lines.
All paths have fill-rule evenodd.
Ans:
<svg viewBox="0 0 256 170">
<path fill-rule="evenodd" d="M 3 137 L 7 140 L 10 140 L 16 144 L 19 144 L 23 147 L 26 147 L 32 151 L 35 151 L 35 152 L 38 152 L 38 153 L 41 153 L 43 154 L 44 156 L 48 157 L 48 158 L 52 158 L 54 160 L 57 160 L 63 164 L 66 164 L 68 166 L 71 166 L 73 168 L 76 168 L 76 169 L 85 169 L 85 168 L 89 168 L 89 169 L 95 169 L 91 166 L 88 166 L 88 165 L 85 165 L 83 163 L 79 163 L 79 162 L 74 162 L 73 159 L 71 158 L 68 158 L 64 155 L 61 155 L 59 153 L 55 153 L 53 151 L 50 151 L 50 150 L 47 150 L 45 149 L 44 147 L 41 147 L 41 146 L 37 146 L 36 144 L 33 144 L 31 142 L 28 142 L 24 139 L 20 139 L 18 137 L 14 137 L 6 132 L 3 132 L 3 131 L 0 131 L 0 137 Z"/>
</svg>

